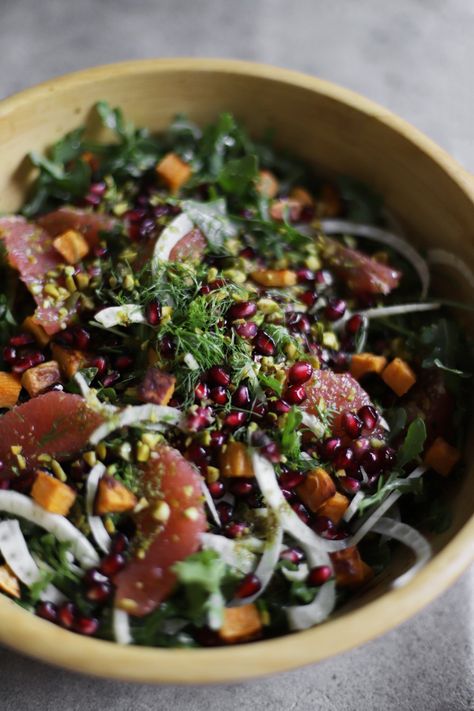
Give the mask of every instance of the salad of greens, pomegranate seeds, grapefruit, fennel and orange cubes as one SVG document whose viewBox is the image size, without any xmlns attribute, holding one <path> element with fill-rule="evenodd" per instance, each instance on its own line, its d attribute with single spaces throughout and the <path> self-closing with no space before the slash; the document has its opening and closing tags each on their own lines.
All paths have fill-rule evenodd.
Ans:
<svg viewBox="0 0 474 711">
<path fill-rule="evenodd" d="M 449 256 L 228 113 L 153 135 L 95 110 L 110 138 L 31 154 L 0 217 L 0 592 L 201 647 L 324 622 L 399 545 L 403 585 L 461 462 Z"/>
</svg>

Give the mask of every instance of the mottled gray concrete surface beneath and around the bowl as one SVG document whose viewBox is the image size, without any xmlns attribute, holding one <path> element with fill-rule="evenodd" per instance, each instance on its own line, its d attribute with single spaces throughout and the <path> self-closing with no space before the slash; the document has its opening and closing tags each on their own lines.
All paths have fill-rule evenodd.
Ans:
<svg viewBox="0 0 474 711">
<path fill-rule="evenodd" d="M 0 97 L 153 56 L 265 61 L 344 84 L 474 172 L 474 0 L 0 0 Z M 0 650 L 2 711 L 474 709 L 474 571 L 410 622 L 318 666 L 218 688 L 76 676 Z"/>
</svg>

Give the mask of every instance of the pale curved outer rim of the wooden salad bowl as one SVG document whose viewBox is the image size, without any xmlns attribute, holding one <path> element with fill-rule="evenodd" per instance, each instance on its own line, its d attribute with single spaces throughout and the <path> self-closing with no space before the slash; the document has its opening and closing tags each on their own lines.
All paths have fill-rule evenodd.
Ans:
<svg viewBox="0 0 474 711">
<path fill-rule="evenodd" d="M 420 149 L 463 191 L 473 206 L 471 176 L 444 150 L 387 109 L 331 82 L 278 67 L 225 59 L 147 59 L 94 67 L 51 79 L 0 102 L 0 120 L 52 92 L 111 76 L 183 70 L 259 77 L 334 99 L 381 122 Z M 474 559 L 474 516 L 404 588 L 391 590 L 320 627 L 254 644 L 215 649 L 124 647 L 70 634 L 0 597 L 0 640 L 9 647 L 67 669 L 147 683 L 205 684 L 238 681 L 327 659 L 387 632 L 444 592 Z"/>
</svg>

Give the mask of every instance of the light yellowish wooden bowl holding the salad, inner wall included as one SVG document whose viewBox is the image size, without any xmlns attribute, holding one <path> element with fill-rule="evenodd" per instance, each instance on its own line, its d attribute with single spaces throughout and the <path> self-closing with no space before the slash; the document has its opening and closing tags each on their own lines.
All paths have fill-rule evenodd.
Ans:
<svg viewBox="0 0 474 711">
<path fill-rule="evenodd" d="M 457 163 L 385 109 L 313 77 L 222 60 L 127 62 L 54 79 L 0 103 L 0 211 L 14 211 L 31 179 L 25 155 L 42 151 L 88 119 L 106 99 L 139 125 L 163 129 L 182 111 L 199 123 L 222 110 L 252 132 L 272 127 L 278 143 L 319 170 L 360 178 L 385 196 L 420 247 L 445 247 L 474 269 L 474 185 Z M 472 301 L 456 274 L 451 298 Z M 433 540 L 431 562 L 406 587 L 389 575 L 329 622 L 279 639 L 235 647 L 164 650 L 80 637 L 0 599 L 0 640 L 69 669 L 141 682 L 208 683 L 248 679 L 317 662 L 391 629 L 427 605 L 474 558 L 474 456 L 449 493 L 454 522 Z"/>
</svg>

